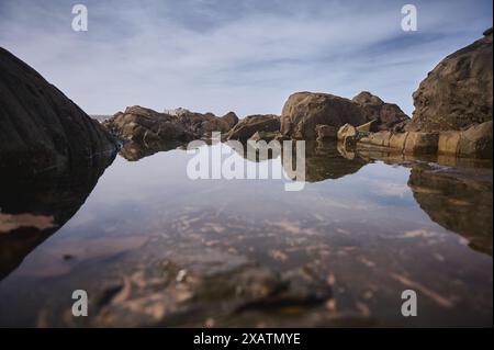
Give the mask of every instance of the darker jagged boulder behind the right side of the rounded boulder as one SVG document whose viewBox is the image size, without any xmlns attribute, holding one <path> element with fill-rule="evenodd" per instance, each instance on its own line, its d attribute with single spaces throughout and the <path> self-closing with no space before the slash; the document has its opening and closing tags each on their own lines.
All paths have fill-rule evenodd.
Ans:
<svg viewBox="0 0 494 350">
<path fill-rule="evenodd" d="M 386 103 L 368 91 L 360 92 L 351 101 L 362 108 L 366 121 L 374 121 L 370 132 L 391 129 L 393 126 L 409 120 L 408 115 L 397 104 Z"/>
</svg>

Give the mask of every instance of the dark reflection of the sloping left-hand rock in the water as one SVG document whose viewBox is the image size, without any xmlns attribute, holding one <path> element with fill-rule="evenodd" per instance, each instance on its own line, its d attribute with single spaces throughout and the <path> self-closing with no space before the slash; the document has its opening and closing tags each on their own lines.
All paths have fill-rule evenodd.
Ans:
<svg viewBox="0 0 494 350">
<path fill-rule="evenodd" d="M 0 182 L 0 280 L 77 213 L 113 159 L 93 158 L 92 167 Z"/>
</svg>

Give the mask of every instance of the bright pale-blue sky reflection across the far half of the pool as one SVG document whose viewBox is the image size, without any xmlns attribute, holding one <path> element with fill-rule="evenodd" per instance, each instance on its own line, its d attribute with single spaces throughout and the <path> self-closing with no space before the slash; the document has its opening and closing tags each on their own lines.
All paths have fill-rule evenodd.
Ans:
<svg viewBox="0 0 494 350">
<path fill-rule="evenodd" d="M 337 180 L 306 183 L 300 192 L 285 192 L 284 178 L 190 180 L 186 169 L 191 157 L 183 150 L 159 153 L 136 162 L 117 157 L 79 212 L 29 256 L 24 264 L 42 258 L 44 249 L 50 246 L 71 245 L 71 241 L 83 245 L 86 239 L 102 235 L 120 237 L 159 232 L 162 219 L 172 219 L 186 208 L 240 215 L 254 225 L 263 221 L 318 217 L 338 223 L 340 229 L 349 232 L 360 226 L 359 223 L 379 224 L 381 230 L 391 232 L 419 225 L 442 230 L 413 199 L 406 184 L 407 168 L 369 163 Z M 248 167 L 258 166 L 245 162 Z M 282 169 L 280 158 L 262 163 Z"/>
</svg>

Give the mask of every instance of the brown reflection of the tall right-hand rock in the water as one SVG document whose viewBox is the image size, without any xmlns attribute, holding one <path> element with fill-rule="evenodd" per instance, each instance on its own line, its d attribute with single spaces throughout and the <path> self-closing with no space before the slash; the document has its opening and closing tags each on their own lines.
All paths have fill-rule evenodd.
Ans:
<svg viewBox="0 0 494 350">
<path fill-rule="evenodd" d="M 408 185 L 434 222 L 492 255 L 492 169 L 414 167 Z"/>
</svg>

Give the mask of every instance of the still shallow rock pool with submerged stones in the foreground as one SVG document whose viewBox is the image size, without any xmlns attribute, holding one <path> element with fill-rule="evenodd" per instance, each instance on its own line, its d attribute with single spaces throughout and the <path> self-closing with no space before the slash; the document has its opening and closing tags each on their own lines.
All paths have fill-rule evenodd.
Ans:
<svg viewBox="0 0 494 350">
<path fill-rule="evenodd" d="M 68 213 L 2 200 L 0 215 L 40 216 L 0 225 L 0 325 L 492 326 L 492 166 L 315 147 L 304 190 L 287 192 L 283 179 L 190 180 L 181 149 L 122 155 L 133 161 L 117 156 L 93 189 L 42 193 Z M 72 317 L 74 290 L 88 317 Z"/>
</svg>

